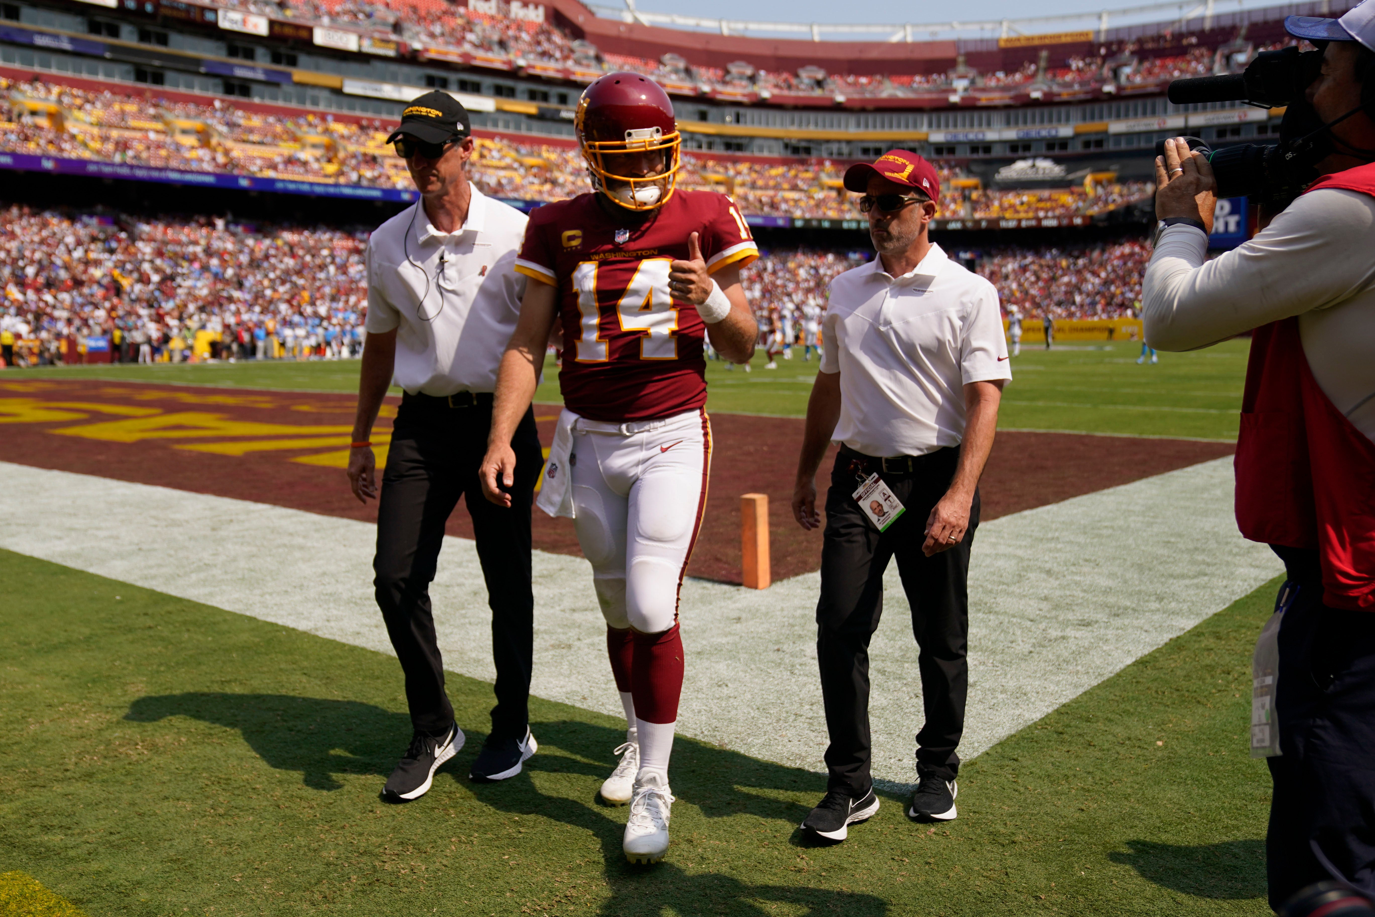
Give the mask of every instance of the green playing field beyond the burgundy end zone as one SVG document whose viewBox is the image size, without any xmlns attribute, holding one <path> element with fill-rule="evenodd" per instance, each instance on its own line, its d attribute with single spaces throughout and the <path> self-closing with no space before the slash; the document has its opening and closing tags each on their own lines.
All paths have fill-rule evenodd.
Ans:
<svg viewBox="0 0 1375 917">
<path fill-rule="evenodd" d="M 1012 360 L 1013 382 L 1002 397 L 1000 425 L 1006 429 L 1077 430 L 1132 436 L 1182 436 L 1233 440 L 1246 375 L 1247 341 L 1228 341 L 1192 353 L 1162 353 L 1156 366 L 1137 366 L 1140 345 L 1067 344 L 1053 351 L 1034 346 Z M 795 351 L 766 370 L 756 353 L 752 371 L 726 371 L 708 363 L 708 410 L 737 414 L 802 417 L 817 373 Z M 14 370 L 10 375 L 45 378 L 116 378 L 179 385 L 353 392 L 358 363 L 219 363 L 160 366 L 91 366 Z M 560 401 L 558 368 L 549 362 L 540 401 Z"/>
</svg>

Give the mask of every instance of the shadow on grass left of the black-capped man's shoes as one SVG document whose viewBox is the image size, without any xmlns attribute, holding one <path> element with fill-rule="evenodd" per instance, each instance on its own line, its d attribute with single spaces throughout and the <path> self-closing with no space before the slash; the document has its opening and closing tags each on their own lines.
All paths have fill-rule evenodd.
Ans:
<svg viewBox="0 0 1375 917">
<path fill-rule="evenodd" d="M 340 789 L 334 774 L 386 777 L 406 751 L 411 718 L 373 704 L 287 694 L 188 692 L 140 697 L 125 719 L 154 723 L 191 716 L 236 729 L 258 758 L 301 773 L 311 789 Z"/>
</svg>

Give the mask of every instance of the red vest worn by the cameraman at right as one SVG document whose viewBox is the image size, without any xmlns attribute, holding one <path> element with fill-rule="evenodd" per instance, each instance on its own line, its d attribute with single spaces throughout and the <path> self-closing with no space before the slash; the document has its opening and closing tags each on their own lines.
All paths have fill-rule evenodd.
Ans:
<svg viewBox="0 0 1375 917">
<path fill-rule="evenodd" d="M 1326 176 L 1309 191 L 1317 188 L 1375 197 L 1375 164 Z M 1297 318 L 1251 335 L 1235 467 L 1242 535 L 1316 549 L 1323 601 L 1375 612 L 1375 443 L 1313 379 Z"/>
</svg>

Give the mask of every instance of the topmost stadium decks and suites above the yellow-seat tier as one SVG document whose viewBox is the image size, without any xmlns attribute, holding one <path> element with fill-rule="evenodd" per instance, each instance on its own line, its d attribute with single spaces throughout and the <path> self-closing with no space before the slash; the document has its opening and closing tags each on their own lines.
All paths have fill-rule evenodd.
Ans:
<svg viewBox="0 0 1375 917">
<path fill-rule="evenodd" d="M 1284 14 L 1319 7 L 1336 11 L 1324 0 L 1099 32 L 912 41 L 909 30 L 906 41 L 830 43 L 610 21 L 578 0 L 6 0 L 0 15 L 18 27 L 0 25 L 0 43 L 11 45 L 0 60 L 30 66 L 16 54 L 29 45 L 132 63 L 131 78 L 158 85 L 377 114 L 390 109 L 363 102 L 395 104 L 437 87 L 480 111 L 544 121 L 546 133 L 566 132 L 582 84 L 630 69 L 696 103 L 683 106 L 683 120 L 725 148 L 740 144 L 727 137 L 780 132 L 859 132 L 881 143 L 931 129 L 1055 133 L 1075 121 L 1053 104 L 1067 102 L 1154 96 L 1158 104 L 1119 104 L 1086 120 L 1169 117 L 1177 111 L 1159 99 L 1169 80 L 1244 66 L 1258 48 L 1284 40 Z M 89 63 L 72 71 L 121 78 Z M 1049 115 L 976 117 L 1013 106 Z M 770 117 L 798 107 L 826 114 Z M 742 109 L 759 117 L 741 117 Z M 928 111 L 947 117 L 918 114 Z M 850 113 L 876 114 L 843 117 Z"/>
</svg>

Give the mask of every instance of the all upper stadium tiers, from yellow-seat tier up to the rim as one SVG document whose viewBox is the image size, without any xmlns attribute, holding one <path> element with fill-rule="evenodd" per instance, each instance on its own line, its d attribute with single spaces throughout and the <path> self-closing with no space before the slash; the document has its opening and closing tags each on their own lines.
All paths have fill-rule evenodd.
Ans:
<svg viewBox="0 0 1375 917">
<path fill-rule="evenodd" d="M 1236 70 L 1283 41 L 1284 14 L 1345 5 L 1096 34 L 826 43 L 656 29 L 575 0 L 221 1 L 0 0 L 0 73 L 18 81 L 0 150 L 28 157 L 0 155 L 0 168 L 402 201 L 399 161 L 359 121 L 390 121 L 443 88 L 492 142 L 485 187 L 540 201 L 580 175 L 565 159 L 582 84 L 632 69 L 675 95 L 698 157 L 686 183 L 730 190 L 767 225 L 855 219 L 837 169 L 895 146 L 958 170 L 949 219 L 1086 220 L 1145 194 L 1145 154 L 1162 136 L 1277 129 L 1277 111 L 1172 106 L 1169 80 Z M 76 92 L 59 99 L 36 74 Z M 102 89 L 125 100 L 102 103 Z"/>
</svg>

